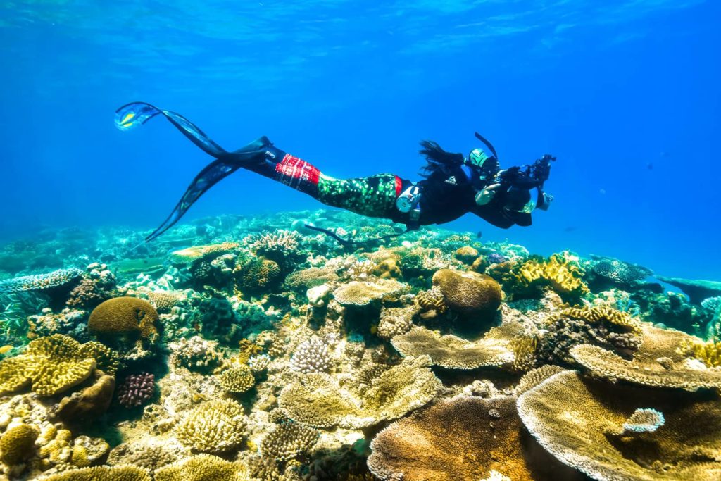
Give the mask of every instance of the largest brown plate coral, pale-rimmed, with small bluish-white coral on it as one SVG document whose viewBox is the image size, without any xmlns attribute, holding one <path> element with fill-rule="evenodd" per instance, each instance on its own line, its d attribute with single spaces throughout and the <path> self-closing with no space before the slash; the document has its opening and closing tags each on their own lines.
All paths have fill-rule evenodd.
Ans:
<svg viewBox="0 0 721 481">
<path fill-rule="evenodd" d="M 663 412 L 665 424 L 654 432 L 624 431 L 639 407 Z M 522 394 L 518 413 L 541 446 L 596 480 L 721 476 L 721 403 L 715 394 L 609 384 L 563 371 Z"/>
</svg>

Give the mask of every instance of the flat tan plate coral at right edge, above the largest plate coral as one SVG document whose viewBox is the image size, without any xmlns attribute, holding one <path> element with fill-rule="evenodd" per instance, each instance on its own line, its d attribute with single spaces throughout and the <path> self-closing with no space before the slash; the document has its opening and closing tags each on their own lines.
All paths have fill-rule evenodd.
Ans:
<svg viewBox="0 0 721 481">
<path fill-rule="evenodd" d="M 681 387 L 694 390 L 699 387 L 721 387 L 721 370 L 697 369 L 684 363 L 669 368 L 665 362 L 626 361 L 610 350 L 596 345 L 581 344 L 570 350 L 576 362 L 609 379 L 624 379 L 635 384 L 656 387 Z"/>
</svg>

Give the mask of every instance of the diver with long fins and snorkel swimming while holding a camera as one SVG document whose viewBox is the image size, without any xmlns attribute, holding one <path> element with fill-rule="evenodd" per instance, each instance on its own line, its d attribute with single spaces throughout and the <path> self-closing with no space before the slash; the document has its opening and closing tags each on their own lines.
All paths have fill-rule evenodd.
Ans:
<svg viewBox="0 0 721 481">
<path fill-rule="evenodd" d="M 503 229 L 530 226 L 531 212 L 536 208 L 547 210 L 553 200 L 543 186 L 555 157 L 546 154 L 534 164 L 502 170 L 495 149 L 479 133 L 475 135 L 487 146 L 490 155 L 483 149 L 474 149 L 464 156 L 447 152 L 433 141 L 421 142 L 420 154 L 428 164 L 420 182 L 392 174 L 341 180 L 324 175 L 308 162 L 278 149 L 265 136 L 236 151 L 226 151 L 175 112 L 133 102 L 123 105 L 115 114 L 115 125 L 120 130 L 138 127 L 156 115 L 163 115 L 215 159 L 200 171 L 172 213 L 146 241 L 170 229 L 200 195 L 241 167 L 309 194 L 327 206 L 405 224 L 407 231 L 444 224 L 469 212 Z M 344 242 L 325 229 L 306 226 Z"/>
</svg>

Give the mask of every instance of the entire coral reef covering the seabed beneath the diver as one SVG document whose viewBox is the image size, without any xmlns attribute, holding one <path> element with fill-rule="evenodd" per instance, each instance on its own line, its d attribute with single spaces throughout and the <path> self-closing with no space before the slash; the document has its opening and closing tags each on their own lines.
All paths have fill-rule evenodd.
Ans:
<svg viewBox="0 0 721 481">
<path fill-rule="evenodd" d="M 306 221 L 398 232 L 316 211 L 1 247 L 0 478 L 721 479 L 721 283 Z"/>
</svg>

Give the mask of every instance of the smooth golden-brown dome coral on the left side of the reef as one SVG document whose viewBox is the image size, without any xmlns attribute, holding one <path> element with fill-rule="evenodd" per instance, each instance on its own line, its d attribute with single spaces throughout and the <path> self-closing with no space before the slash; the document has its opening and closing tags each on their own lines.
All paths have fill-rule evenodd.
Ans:
<svg viewBox="0 0 721 481">
<path fill-rule="evenodd" d="M 155 340 L 158 312 L 152 304 L 135 297 L 115 297 L 103 302 L 90 313 L 88 330 L 97 335 L 139 335 Z"/>
</svg>

